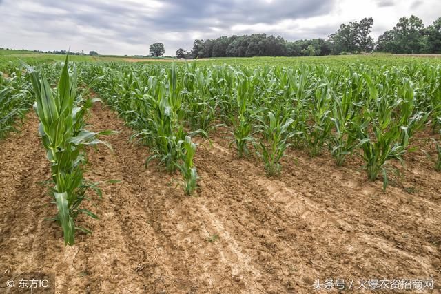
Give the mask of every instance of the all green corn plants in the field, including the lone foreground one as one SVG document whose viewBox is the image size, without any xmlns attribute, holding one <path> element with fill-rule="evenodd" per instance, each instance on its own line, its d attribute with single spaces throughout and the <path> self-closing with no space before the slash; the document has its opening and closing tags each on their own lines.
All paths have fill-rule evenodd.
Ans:
<svg viewBox="0 0 441 294">
<path fill-rule="evenodd" d="M 132 140 L 149 147 L 145 165 L 181 174 L 187 195 L 198 195 L 198 146 L 194 137 L 227 134 L 234 156 L 262 162 L 269 178 L 283 174 L 290 149 L 311 158 L 329 150 L 336 166 L 359 157 L 369 181 L 387 189 L 393 171 L 419 132 L 430 132 L 436 147 L 433 169 L 441 169 L 441 66 L 350 64 L 247 67 L 229 65 L 143 65 L 125 63 L 45 63 L 8 65 L 0 74 L 0 136 L 14 130 L 32 104 L 51 164 L 53 220 L 65 244 L 74 244 L 75 219 L 87 191 L 97 183 L 83 177 L 85 146 L 108 143 L 90 132 L 85 118 L 98 98 L 89 85 L 133 129 Z M 59 74 L 61 72 L 61 74 Z M 57 87 L 53 88 L 58 80 Z M 111 147 L 110 147 L 111 148 Z M 292 159 L 291 159 L 292 160 Z M 295 159 L 294 159 L 295 160 Z"/>
</svg>

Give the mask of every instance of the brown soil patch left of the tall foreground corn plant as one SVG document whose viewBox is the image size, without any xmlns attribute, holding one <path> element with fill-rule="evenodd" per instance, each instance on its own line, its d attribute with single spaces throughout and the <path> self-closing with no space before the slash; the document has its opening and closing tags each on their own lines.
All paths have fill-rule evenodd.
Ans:
<svg viewBox="0 0 441 294">
<path fill-rule="evenodd" d="M 50 165 L 38 124 L 31 111 L 21 132 L 0 142 L 0 287 L 20 273 L 43 272 L 52 274 L 51 287 L 63 289 L 65 276 L 72 273 L 68 260 L 74 249 L 64 248 L 59 227 L 44 220 L 56 210 L 39 184 L 50 179 Z"/>
</svg>

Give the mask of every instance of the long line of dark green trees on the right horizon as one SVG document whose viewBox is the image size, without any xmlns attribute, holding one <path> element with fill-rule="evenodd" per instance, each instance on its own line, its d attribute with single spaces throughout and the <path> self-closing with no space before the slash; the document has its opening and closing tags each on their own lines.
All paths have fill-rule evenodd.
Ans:
<svg viewBox="0 0 441 294">
<path fill-rule="evenodd" d="M 251 34 L 220 36 L 217 39 L 196 39 L 192 50 L 179 48 L 178 58 L 251 57 L 251 56 L 323 56 L 358 54 L 362 52 L 441 53 L 441 17 L 424 27 L 422 20 L 412 15 L 402 17 L 392 30 L 377 41 L 369 35 L 373 18 L 365 17 L 340 25 L 328 39 L 286 41 L 281 36 Z"/>
</svg>

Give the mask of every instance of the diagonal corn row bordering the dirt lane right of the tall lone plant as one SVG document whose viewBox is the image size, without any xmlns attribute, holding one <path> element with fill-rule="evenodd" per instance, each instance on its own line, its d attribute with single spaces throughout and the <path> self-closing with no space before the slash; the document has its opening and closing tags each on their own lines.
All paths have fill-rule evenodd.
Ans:
<svg viewBox="0 0 441 294">
<path fill-rule="evenodd" d="M 185 193 L 192 194 L 198 178 L 194 165 L 196 144 L 192 142 L 192 136 L 207 134 L 204 129 L 209 129 L 210 122 L 204 115 L 209 115 L 210 111 L 206 109 L 210 106 L 201 103 L 189 107 L 183 103 L 191 97 L 178 80 L 176 67 L 146 67 L 137 72 L 116 63 L 107 66 L 88 64 L 85 72 L 86 80 L 98 78 L 94 90 L 134 129 L 132 138 L 150 147 L 146 165 L 158 160 L 166 171 L 180 171 Z M 191 83 L 204 83 L 198 81 L 197 76 L 185 78 Z M 192 94 L 196 95 L 205 96 L 199 92 Z M 201 124 L 204 127 L 189 131 L 191 127 L 184 121 L 185 114 L 189 112 L 194 114 L 193 126 Z M 198 116 L 199 112 L 204 115 Z"/>
</svg>

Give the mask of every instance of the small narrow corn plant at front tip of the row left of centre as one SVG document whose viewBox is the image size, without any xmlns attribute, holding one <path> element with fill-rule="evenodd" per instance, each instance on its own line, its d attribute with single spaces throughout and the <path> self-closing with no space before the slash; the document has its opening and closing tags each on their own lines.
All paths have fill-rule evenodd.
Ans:
<svg viewBox="0 0 441 294">
<path fill-rule="evenodd" d="M 192 138 L 185 136 L 185 140 L 179 140 L 178 148 L 181 151 L 181 162 L 178 162 L 176 166 L 184 178 L 184 191 L 187 195 L 190 195 L 196 189 L 196 180 L 198 179 L 196 167 L 193 163 L 196 144 L 192 142 Z"/>
</svg>

